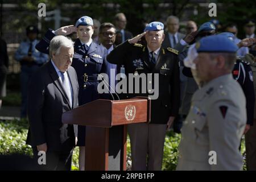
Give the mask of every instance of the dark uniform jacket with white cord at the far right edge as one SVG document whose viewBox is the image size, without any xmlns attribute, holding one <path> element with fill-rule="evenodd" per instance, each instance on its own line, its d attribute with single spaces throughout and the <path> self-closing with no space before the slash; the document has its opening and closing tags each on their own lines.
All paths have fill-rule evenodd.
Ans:
<svg viewBox="0 0 256 182">
<path fill-rule="evenodd" d="M 250 63 L 237 59 L 233 68 L 233 77 L 241 85 L 246 98 L 247 125 L 253 125 L 255 93 L 253 85 L 253 71 Z"/>
</svg>

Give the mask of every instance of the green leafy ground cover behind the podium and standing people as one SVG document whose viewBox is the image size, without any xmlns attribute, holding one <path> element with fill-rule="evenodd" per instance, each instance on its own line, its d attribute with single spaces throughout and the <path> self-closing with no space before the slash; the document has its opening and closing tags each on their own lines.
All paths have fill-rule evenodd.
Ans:
<svg viewBox="0 0 256 182">
<path fill-rule="evenodd" d="M 32 157 L 32 149 L 26 145 L 28 122 L 26 119 L 21 121 L 0 121 L 0 155 L 6 154 L 26 154 Z M 178 146 L 180 134 L 168 131 L 164 144 L 163 166 L 164 171 L 175 170 L 177 165 Z M 245 162 L 245 140 L 242 139 L 241 153 Z M 79 169 L 79 147 L 73 152 L 72 170 Z M 127 136 L 127 169 L 131 169 L 131 146 Z M 246 165 L 243 165 L 246 170 Z"/>
</svg>

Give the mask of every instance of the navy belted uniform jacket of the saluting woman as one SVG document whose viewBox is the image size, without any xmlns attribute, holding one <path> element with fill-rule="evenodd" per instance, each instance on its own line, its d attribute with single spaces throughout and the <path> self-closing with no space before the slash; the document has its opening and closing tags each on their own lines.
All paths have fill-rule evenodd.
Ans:
<svg viewBox="0 0 256 182">
<path fill-rule="evenodd" d="M 36 49 L 49 53 L 49 43 L 54 36 L 56 35 L 49 29 L 43 39 L 36 44 Z M 105 72 L 107 52 L 106 48 L 94 42 L 86 52 L 79 39 L 75 41 L 74 52 L 72 67 L 76 70 L 79 82 L 79 105 L 83 105 L 100 98 L 97 91 L 97 75 Z"/>
</svg>

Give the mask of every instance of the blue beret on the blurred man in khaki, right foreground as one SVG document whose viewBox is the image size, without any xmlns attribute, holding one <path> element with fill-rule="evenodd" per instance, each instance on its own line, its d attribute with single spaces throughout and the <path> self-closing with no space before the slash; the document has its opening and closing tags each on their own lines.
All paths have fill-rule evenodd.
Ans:
<svg viewBox="0 0 256 182">
<path fill-rule="evenodd" d="M 212 35 L 196 43 L 197 52 L 236 52 L 237 45 L 223 35 Z"/>
</svg>

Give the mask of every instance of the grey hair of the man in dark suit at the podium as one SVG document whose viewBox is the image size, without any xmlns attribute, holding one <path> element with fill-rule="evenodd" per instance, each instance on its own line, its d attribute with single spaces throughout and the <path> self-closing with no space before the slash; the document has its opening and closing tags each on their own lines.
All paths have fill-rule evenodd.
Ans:
<svg viewBox="0 0 256 182">
<path fill-rule="evenodd" d="M 74 47 L 74 42 L 63 35 L 55 36 L 49 44 L 49 56 L 52 58 L 53 53 L 59 54 L 61 47 Z"/>
</svg>

